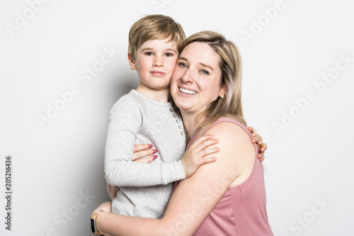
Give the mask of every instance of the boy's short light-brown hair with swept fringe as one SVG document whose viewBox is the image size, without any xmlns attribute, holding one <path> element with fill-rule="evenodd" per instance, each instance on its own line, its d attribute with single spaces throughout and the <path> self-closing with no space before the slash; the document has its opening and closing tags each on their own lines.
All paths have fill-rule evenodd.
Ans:
<svg viewBox="0 0 354 236">
<path fill-rule="evenodd" d="M 149 15 L 135 22 L 129 31 L 128 54 L 132 60 L 136 59 L 137 49 L 149 40 L 169 38 L 169 42 L 176 43 L 178 53 L 181 52 L 185 34 L 182 26 L 173 18 L 163 15 Z"/>
</svg>

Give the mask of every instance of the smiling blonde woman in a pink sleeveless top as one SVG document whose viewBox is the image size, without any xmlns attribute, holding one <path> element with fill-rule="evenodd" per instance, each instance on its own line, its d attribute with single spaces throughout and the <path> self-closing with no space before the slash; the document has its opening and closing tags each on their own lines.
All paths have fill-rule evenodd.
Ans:
<svg viewBox="0 0 354 236">
<path fill-rule="evenodd" d="M 108 202 L 95 210 L 98 230 L 102 235 L 273 235 L 263 169 L 245 128 L 241 57 L 234 43 L 210 31 L 191 35 L 173 72 L 171 96 L 188 147 L 201 135 L 217 137 L 217 162 L 175 184 L 160 220 L 110 213 Z"/>
</svg>

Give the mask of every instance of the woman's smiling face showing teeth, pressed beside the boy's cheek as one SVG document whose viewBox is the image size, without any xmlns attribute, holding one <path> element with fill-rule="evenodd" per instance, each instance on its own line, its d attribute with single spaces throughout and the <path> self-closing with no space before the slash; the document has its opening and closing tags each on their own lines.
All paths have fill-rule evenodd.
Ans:
<svg viewBox="0 0 354 236">
<path fill-rule="evenodd" d="M 219 60 L 207 43 L 184 47 L 171 78 L 171 96 L 181 111 L 198 114 L 224 93 Z"/>
</svg>

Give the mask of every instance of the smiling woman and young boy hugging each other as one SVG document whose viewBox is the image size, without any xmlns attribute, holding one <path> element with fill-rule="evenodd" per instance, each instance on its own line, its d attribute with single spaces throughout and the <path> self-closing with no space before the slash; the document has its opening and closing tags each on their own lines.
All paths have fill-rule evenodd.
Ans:
<svg viewBox="0 0 354 236">
<path fill-rule="evenodd" d="M 130 28 L 128 60 L 139 86 L 110 111 L 113 201 L 93 211 L 93 233 L 273 235 L 267 145 L 246 128 L 236 45 L 212 31 L 185 39 L 169 16 L 149 15 Z"/>
</svg>

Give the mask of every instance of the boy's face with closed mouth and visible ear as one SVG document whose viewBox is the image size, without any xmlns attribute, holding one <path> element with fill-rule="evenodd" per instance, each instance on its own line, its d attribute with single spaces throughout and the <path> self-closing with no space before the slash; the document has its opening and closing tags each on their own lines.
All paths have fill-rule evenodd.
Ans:
<svg viewBox="0 0 354 236">
<path fill-rule="evenodd" d="M 150 89 L 169 89 L 178 50 L 176 43 L 166 40 L 149 40 L 137 50 L 136 59 L 130 55 L 130 69 L 136 69 L 139 82 Z"/>
</svg>

